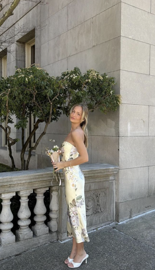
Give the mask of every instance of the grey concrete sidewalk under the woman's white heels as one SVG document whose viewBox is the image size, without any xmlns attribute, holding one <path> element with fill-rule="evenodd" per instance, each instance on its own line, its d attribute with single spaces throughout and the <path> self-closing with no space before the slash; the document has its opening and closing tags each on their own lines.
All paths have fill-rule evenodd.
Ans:
<svg viewBox="0 0 155 270">
<path fill-rule="evenodd" d="M 89 258 L 79 269 L 155 270 L 155 212 L 89 233 Z M 61 270 L 72 241 L 54 242 L 0 262 L 0 270 Z"/>
</svg>

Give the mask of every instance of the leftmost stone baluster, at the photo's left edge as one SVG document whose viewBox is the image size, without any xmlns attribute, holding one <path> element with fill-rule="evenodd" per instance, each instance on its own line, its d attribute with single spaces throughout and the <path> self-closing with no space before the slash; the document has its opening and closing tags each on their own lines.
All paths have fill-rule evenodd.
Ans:
<svg viewBox="0 0 155 270">
<path fill-rule="evenodd" d="M 2 230 L 0 234 L 0 243 L 1 245 L 6 245 L 15 242 L 15 235 L 11 231 L 13 227 L 13 214 L 10 209 L 11 201 L 10 199 L 15 196 L 15 192 L 8 192 L 0 194 L 2 201 L 2 211 L 0 214 L 0 229 Z"/>
</svg>

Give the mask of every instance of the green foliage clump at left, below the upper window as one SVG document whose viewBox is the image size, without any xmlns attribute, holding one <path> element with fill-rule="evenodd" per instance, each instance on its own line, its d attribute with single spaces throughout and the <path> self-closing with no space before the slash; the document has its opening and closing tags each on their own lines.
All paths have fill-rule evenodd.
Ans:
<svg viewBox="0 0 155 270">
<path fill-rule="evenodd" d="M 61 112 L 58 105 L 65 102 L 63 96 L 63 83 L 55 77 L 36 66 L 17 69 L 15 75 L 0 81 L 0 117 L 2 122 L 6 119 L 6 100 L 8 96 L 9 119 L 8 123 L 13 123 L 12 115 L 18 118 L 15 124 L 16 129 L 26 128 L 30 112 L 47 122 L 51 100 L 58 94 L 59 99 L 53 100 L 51 122 L 58 120 Z"/>
</svg>

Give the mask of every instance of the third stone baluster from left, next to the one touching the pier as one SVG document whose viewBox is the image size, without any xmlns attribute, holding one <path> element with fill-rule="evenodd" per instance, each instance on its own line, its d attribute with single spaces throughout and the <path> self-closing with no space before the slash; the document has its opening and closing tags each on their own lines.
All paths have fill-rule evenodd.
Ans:
<svg viewBox="0 0 155 270">
<path fill-rule="evenodd" d="M 46 216 L 44 215 L 46 213 L 46 207 L 43 201 L 43 198 L 45 197 L 43 194 L 48 189 L 49 188 L 46 187 L 34 189 L 34 192 L 37 194 L 37 201 L 34 208 L 34 213 L 36 214 L 34 220 L 36 221 L 36 224 L 32 227 L 32 231 L 35 235 L 48 234 L 49 232 L 48 227 L 44 223 L 44 221 L 46 220 Z"/>
</svg>

